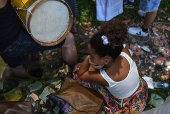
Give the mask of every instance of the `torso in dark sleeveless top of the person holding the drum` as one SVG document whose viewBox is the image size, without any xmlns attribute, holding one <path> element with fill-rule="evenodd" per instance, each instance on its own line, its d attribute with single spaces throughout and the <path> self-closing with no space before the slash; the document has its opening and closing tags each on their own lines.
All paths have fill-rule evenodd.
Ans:
<svg viewBox="0 0 170 114">
<path fill-rule="evenodd" d="M 17 39 L 21 27 L 11 0 L 7 0 L 6 5 L 0 8 L 0 52 Z"/>
</svg>

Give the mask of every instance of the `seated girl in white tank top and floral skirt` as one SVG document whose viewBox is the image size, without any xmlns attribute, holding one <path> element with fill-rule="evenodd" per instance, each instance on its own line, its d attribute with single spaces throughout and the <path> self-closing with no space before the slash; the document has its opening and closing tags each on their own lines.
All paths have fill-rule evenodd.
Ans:
<svg viewBox="0 0 170 114">
<path fill-rule="evenodd" d="M 109 114 L 140 113 L 148 97 L 147 84 L 124 44 L 126 37 L 124 23 L 105 23 L 88 44 L 90 55 L 73 71 L 73 78 L 82 86 L 103 96 Z"/>
</svg>

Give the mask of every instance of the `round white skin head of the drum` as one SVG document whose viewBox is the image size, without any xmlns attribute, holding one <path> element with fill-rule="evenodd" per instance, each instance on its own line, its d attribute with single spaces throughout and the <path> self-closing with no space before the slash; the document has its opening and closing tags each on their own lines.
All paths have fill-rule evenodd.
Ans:
<svg viewBox="0 0 170 114">
<path fill-rule="evenodd" d="M 30 32 L 37 41 L 51 43 L 64 35 L 69 23 L 69 10 L 63 3 L 46 1 L 32 13 Z"/>
</svg>

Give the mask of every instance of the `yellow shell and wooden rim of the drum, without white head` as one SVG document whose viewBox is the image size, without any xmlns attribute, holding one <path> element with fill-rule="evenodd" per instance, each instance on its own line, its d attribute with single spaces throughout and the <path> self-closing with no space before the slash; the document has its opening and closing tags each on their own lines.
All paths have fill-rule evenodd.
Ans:
<svg viewBox="0 0 170 114">
<path fill-rule="evenodd" d="M 22 1 L 23 1 L 23 3 L 22 3 Z M 40 1 L 38 1 L 38 2 L 35 4 L 35 6 L 32 8 L 31 13 L 28 15 L 28 17 L 27 17 L 27 9 L 28 9 L 33 3 L 35 3 L 36 0 L 22 0 L 22 1 L 21 1 L 21 0 L 12 0 L 12 3 L 11 3 L 11 4 L 12 4 L 14 7 L 24 9 L 24 10 L 17 10 L 16 12 L 17 12 L 20 20 L 21 20 L 22 23 L 24 24 L 25 28 L 26 28 L 27 31 L 30 33 L 31 37 L 32 37 L 37 43 L 39 43 L 40 45 L 43 45 L 43 46 L 54 46 L 54 45 L 62 42 L 62 41 L 66 38 L 66 36 L 67 36 L 67 34 L 69 33 L 69 31 L 71 30 L 72 24 L 73 24 L 73 14 L 72 14 L 71 8 L 68 6 L 68 4 L 67 4 L 66 2 L 64 2 L 64 1 L 62 1 L 62 0 L 53 0 L 53 1 L 61 1 L 61 2 L 63 2 L 63 3 L 67 6 L 67 8 L 68 8 L 68 10 L 69 10 L 70 24 L 69 24 L 69 26 L 68 26 L 68 28 L 67 28 L 67 31 L 66 31 L 66 32 L 64 33 L 64 35 L 63 35 L 61 38 L 59 38 L 57 41 L 52 41 L 52 42 L 50 42 L 50 43 L 46 43 L 46 42 L 41 42 L 41 41 L 37 40 L 37 39 L 31 34 L 31 30 L 30 30 L 29 24 L 30 24 L 30 20 L 31 20 L 31 17 L 32 17 L 31 13 L 34 13 L 34 11 L 36 10 L 36 8 L 37 8 L 39 5 L 43 4 L 43 3 L 46 2 L 46 1 L 51 1 L 51 0 L 40 0 Z M 25 6 L 26 6 L 26 7 L 25 7 Z"/>
</svg>

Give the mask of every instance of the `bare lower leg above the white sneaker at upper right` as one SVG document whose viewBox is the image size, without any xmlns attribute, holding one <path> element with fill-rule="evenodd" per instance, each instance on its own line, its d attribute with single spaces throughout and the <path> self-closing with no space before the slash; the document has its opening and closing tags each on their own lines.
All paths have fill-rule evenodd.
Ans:
<svg viewBox="0 0 170 114">
<path fill-rule="evenodd" d="M 154 21 L 155 17 L 157 15 L 157 11 L 154 12 L 147 12 L 146 16 L 145 16 L 145 20 L 143 23 L 143 28 L 144 29 L 148 29 L 149 26 L 152 24 L 152 22 Z"/>
</svg>

